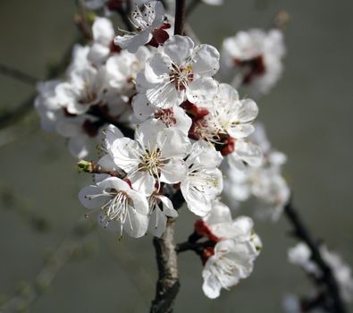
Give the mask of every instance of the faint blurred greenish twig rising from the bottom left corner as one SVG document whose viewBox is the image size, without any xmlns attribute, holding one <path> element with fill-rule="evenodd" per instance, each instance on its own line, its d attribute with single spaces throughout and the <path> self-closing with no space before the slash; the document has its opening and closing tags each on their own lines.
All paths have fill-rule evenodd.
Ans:
<svg viewBox="0 0 353 313">
<path fill-rule="evenodd" d="M 63 266 L 71 258 L 80 255 L 80 252 L 85 249 L 83 238 L 94 229 L 95 226 L 93 224 L 87 224 L 87 222 L 82 224 L 82 219 L 80 219 L 78 224 L 73 227 L 71 233 L 63 239 L 55 252 L 47 259 L 35 281 L 24 285 L 21 292 L 6 301 L 0 309 L 0 313 L 12 313 L 29 309 L 46 292 Z"/>
</svg>

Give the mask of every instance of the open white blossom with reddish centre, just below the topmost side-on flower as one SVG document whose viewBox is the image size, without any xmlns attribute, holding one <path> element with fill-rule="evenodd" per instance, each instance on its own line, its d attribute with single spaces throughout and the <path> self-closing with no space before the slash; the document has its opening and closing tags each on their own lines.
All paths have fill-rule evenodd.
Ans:
<svg viewBox="0 0 353 313">
<path fill-rule="evenodd" d="M 138 78 L 139 92 L 158 107 L 180 106 L 188 98 L 209 101 L 217 90 L 212 78 L 219 68 L 219 53 L 209 45 L 194 45 L 191 38 L 175 35 L 147 60 Z"/>
</svg>

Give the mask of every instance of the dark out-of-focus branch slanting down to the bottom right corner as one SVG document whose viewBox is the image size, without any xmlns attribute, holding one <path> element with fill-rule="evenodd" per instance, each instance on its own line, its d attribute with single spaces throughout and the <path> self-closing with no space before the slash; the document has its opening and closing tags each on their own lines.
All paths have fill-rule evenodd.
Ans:
<svg viewBox="0 0 353 313">
<path fill-rule="evenodd" d="M 315 262 L 322 272 L 322 283 L 326 286 L 327 294 L 332 300 L 332 312 L 346 313 L 347 310 L 345 309 L 343 301 L 340 297 L 340 287 L 332 274 L 332 269 L 324 261 L 317 241 L 315 241 L 311 233 L 309 233 L 307 226 L 298 215 L 298 210 L 293 207 L 291 199 L 284 207 L 284 214 L 293 227 L 293 235 L 300 241 L 304 241 L 307 244 L 307 247 L 311 251 L 312 261 Z"/>
</svg>

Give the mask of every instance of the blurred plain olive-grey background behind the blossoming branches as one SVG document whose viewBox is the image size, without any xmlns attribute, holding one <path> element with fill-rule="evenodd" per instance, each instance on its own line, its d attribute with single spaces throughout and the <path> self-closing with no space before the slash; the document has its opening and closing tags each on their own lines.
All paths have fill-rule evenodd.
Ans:
<svg viewBox="0 0 353 313">
<path fill-rule="evenodd" d="M 224 0 L 220 7 L 199 5 L 189 22 L 201 41 L 219 47 L 238 30 L 270 27 L 282 9 L 290 13 L 285 72 L 258 102 L 259 120 L 273 147 L 289 157 L 285 173 L 311 231 L 352 265 L 353 2 Z M 1 0 L 0 63 L 44 78 L 48 64 L 57 62 L 77 35 L 74 13 L 71 0 Z M 0 76 L 0 112 L 33 92 Z M 30 311 L 147 312 L 157 275 L 152 238 L 118 241 L 104 230 L 78 231 L 85 209 L 77 193 L 90 177 L 77 173 L 64 145 L 59 136 L 40 130 L 35 113 L 0 131 L 0 300 L 30 292 L 28 283 L 44 260 L 73 238 L 80 249 Z M 194 218 L 181 211 L 177 241 L 187 238 Z M 287 248 L 295 242 L 289 230 L 283 218 L 277 224 L 257 220 L 264 250 L 254 273 L 217 300 L 206 299 L 201 290 L 199 259 L 182 254 L 175 312 L 282 312 L 287 292 L 309 290 L 304 273 L 287 262 Z"/>
</svg>

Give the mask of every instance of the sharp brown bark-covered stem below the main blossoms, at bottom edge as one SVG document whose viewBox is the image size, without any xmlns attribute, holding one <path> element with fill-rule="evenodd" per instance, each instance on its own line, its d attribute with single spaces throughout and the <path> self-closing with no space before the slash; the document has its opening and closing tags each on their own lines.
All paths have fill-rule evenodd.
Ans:
<svg viewBox="0 0 353 313">
<path fill-rule="evenodd" d="M 158 266 L 158 281 L 150 313 L 172 313 L 173 302 L 180 288 L 173 218 L 168 219 L 163 236 L 155 237 L 153 243 Z"/>
</svg>

